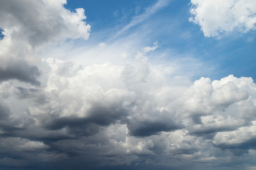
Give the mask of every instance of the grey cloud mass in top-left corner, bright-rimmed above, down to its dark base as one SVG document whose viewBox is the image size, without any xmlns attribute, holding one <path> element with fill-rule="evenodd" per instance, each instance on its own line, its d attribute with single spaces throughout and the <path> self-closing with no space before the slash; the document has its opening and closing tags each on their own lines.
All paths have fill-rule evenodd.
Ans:
<svg viewBox="0 0 256 170">
<path fill-rule="evenodd" d="M 0 80 L 40 85 L 36 50 L 57 40 L 89 38 L 84 9 L 63 7 L 65 1 L 1 1 Z M 28 6 L 30 9 L 28 10 Z"/>
</svg>

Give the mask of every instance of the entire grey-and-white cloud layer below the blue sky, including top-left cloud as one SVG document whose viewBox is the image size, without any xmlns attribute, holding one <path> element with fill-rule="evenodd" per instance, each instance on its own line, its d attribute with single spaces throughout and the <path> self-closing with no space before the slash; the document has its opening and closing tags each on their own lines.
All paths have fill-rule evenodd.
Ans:
<svg viewBox="0 0 256 170">
<path fill-rule="evenodd" d="M 253 79 L 189 81 L 129 38 L 68 53 L 90 26 L 65 3 L 0 2 L 2 169 L 252 168 Z"/>
</svg>

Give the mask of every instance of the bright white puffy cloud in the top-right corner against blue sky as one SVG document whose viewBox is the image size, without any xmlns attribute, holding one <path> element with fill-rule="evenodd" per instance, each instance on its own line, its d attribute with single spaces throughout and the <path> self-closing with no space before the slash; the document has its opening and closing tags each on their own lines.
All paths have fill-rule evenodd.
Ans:
<svg viewBox="0 0 256 170">
<path fill-rule="evenodd" d="M 246 33 L 256 28 L 253 0 L 191 0 L 191 4 L 189 21 L 201 26 L 206 37 L 220 37 L 234 30 Z"/>
</svg>

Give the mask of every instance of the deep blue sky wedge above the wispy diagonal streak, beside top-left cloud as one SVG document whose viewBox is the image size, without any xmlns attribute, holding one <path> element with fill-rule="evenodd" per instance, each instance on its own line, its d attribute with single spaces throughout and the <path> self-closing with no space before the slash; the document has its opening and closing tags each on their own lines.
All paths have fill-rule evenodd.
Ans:
<svg viewBox="0 0 256 170">
<path fill-rule="evenodd" d="M 87 22 L 91 25 L 92 33 L 116 25 L 123 25 L 130 19 L 143 12 L 155 0 L 72 0 L 67 1 L 66 8 L 74 11 L 75 8 L 84 8 Z"/>
</svg>

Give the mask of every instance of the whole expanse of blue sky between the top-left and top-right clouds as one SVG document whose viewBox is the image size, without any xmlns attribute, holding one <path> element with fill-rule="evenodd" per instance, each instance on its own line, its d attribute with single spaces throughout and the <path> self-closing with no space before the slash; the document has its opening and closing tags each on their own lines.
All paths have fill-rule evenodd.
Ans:
<svg viewBox="0 0 256 170">
<path fill-rule="evenodd" d="M 165 6 L 148 14 L 142 21 L 135 22 L 157 2 L 160 1 L 75 0 L 67 1 L 66 7 L 72 10 L 84 8 L 86 21 L 91 25 L 89 42 L 135 36 L 144 45 L 157 41 L 158 52 L 171 52 L 167 52 L 169 56 L 165 57 L 169 62 L 175 57 L 194 57 L 203 62 L 205 67 L 198 68 L 194 79 L 221 79 L 229 74 L 256 79 L 255 31 L 232 32 L 221 38 L 205 37 L 200 26 L 189 22 L 189 1 L 178 0 L 165 1 Z"/>
</svg>

